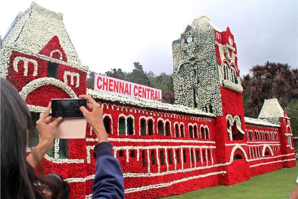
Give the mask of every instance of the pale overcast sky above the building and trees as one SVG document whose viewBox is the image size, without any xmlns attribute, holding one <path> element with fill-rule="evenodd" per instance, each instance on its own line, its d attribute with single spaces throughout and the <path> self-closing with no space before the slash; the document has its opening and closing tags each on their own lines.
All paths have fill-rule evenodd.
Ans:
<svg viewBox="0 0 298 199">
<path fill-rule="evenodd" d="M 287 62 L 298 67 L 298 0 L 36 0 L 62 12 L 83 65 L 172 73 L 172 41 L 202 15 L 220 29 L 230 27 L 241 75 L 256 64 Z M 0 0 L 3 37 L 30 0 Z"/>
</svg>

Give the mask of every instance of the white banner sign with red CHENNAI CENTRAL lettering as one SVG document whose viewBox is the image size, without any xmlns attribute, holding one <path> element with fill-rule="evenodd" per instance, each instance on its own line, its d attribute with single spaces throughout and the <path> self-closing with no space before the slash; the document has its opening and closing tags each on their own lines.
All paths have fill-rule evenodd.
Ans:
<svg viewBox="0 0 298 199">
<path fill-rule="evenodd" d="M 161 90 L 159 89 L 98 74 L 94 76 L 94 90 L 161 101 Z"/>
</svg>

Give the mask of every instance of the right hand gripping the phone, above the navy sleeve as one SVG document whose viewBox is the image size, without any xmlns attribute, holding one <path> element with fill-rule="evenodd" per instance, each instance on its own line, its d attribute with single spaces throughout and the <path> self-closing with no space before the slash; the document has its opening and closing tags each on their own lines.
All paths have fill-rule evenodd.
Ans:
<svg viewBox="0 0 298 199">
<path fill-rule="evenodd" d="M 93 100 L 93 98 L 86 95 L 79 96 L 79 98 L 88 100 L 89 102 L 87 106 L 89 109 L 91 109 L 91 111 L 88 111 L 84 106 L 81 106 L 79 109 L 82 111 L 88 124 L 90 124 L 97 135 L 98 142 L 107 142 L 108 134 L 103 124 L 101 105 Z"/>
</svg>

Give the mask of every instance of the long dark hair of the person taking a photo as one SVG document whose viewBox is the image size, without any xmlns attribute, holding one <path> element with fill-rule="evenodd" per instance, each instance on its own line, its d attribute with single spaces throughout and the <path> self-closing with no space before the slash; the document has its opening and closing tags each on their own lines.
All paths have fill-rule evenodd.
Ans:
<svg viewBox="0 0 298 199">
<path fill-rule="evenodd" d="M 59 186 L 37 173 L 26 161 L 27 140 L 32 140 L 32 120 L 25 101 L 6 80 L 0 80 L 1 198 L 42 199 L 38 185 L 46 184 L 53 196 Z M 36 186 L 37 185 L 37 186 Z"/>
</svg>

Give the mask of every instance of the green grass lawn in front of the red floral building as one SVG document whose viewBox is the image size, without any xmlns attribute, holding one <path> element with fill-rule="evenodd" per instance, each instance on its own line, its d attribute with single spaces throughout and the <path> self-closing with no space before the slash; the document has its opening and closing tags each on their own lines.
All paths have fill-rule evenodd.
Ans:
<svg viewBox="0 0 298 199">
<path fill-rule="evenodd" d="M 298 166 L 284 168 L 235 185 L 210 187 L 163 199 L 288 199 L 297 175 Z"/>
</svg>

